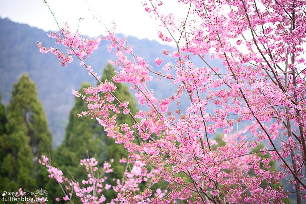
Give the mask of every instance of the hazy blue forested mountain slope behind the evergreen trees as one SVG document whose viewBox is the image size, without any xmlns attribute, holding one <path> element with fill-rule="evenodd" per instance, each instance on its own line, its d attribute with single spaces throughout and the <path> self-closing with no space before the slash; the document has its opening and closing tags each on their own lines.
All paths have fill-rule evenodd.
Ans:
<svg viewBox="0 0 306 204">
<path fill-rule="evenodd" d="M 54 145 L 57 146 L 64 135 L 68 122 L 68 114 L 73 106 L 72 89 L 79 89 L 84 81 L 96 83 L 87 74 L 84 67 L 75 61 L 68 67 L 62 67 L 59 60 L 50 53 L 42 54 L 37 48 L 37 41 L 44 46 L 56 46 L 53 39 L 47 37 L 48 32 L 17 24 L 9 19 L 0 19 L 0 93 L 2 103 L 7 104 L 11 97 L 12 84 L 16 83 L 22 73 L 28 72 L 35 82 L 44 110 L 47 114 L 50 130 L 54 135 Z M 158 42 L 139 40 L 128 37 L 129 44 L 133 46 L 134 53 L 140 53 L 150 63 L 156 56 L 162 56 L 161 50 L 172 49 L 160 45 Z M 107 41 L 102 41 L 86 62 L 91 64 L 96 72 L 102 73 L 107 61 L 114 58 L 112 53 L 106 51 Z M 154 68 L 154 67 L 153 67 Z M 162 88 L 164 92 L 155 91 L 158 97 L 166 97 L 166 80 L 152 82 L 150 88 Z M 153 87 L 154 86 L 154 87 Z M 173 89 L 173 88 L 172 88 Z M 174 92 L 174 90 L 170 91 Z"/>
</svg>

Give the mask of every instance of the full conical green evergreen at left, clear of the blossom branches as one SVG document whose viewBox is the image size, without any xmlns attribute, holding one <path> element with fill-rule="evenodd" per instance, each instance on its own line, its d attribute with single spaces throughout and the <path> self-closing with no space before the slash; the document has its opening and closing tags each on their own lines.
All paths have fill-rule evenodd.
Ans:
<svg viewBox="0 0 306 204">
<path fill-rule="evenodd" d="M 34 191 L 44 187 L 47 172 L 38 159 L 49 152 L 52 134 L 35 83 L 27 74 L 13 85 L 12 99 L 7 106 L 6 131 L 0 136 L 0 188 Z"/>
</svg>

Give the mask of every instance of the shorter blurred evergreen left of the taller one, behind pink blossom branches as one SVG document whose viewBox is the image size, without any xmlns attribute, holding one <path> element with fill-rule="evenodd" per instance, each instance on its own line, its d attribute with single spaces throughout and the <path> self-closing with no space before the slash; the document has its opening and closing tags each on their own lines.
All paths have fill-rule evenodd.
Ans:
<svg viewBox="0 0 306 204">
<path fill-rule="evenodd" d="M 79 90 L 84 94 L 83 89 L 90 84 L 84 82 Z M 90 117 L 80 117 L 78 114 L 87 109 L 85 100 L 75 99 L 75 104 L 69 114 L 69 122 L 66 127 L 65 138 L 57 149 L 55 161 L 65 172 L 64 166 L 77 178 L 84 178 L 87 175 L 84 167 L 80 167 L 80 159 L 96 157 L 98 160 L 104 159 L 103 127 L 96 120 Z M 88 151 L 88 155 L 87 155 Z M 67 172 L 68 173 L 68 172 Z"/>
</svg>

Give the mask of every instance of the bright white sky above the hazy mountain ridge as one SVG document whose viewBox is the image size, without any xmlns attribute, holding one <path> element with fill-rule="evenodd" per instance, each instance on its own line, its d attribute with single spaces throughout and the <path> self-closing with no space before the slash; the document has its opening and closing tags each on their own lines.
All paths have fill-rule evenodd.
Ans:
<svg viewBox="0 0 306 204">
<path fill-rule="evenodd" d="M 142 6 L 143 0 L 49 0 L 50 9 L 62 27 L 68 22 L 70 28 L 75 31 L 79 18 L 83 18 L 79 31 L 82 35 L 95 37 L 105 34 L 105 28 L 93 19 L 89 5 L 100 15 L 106 27 L 110 28 L 110 22 L 117 24 L 116 33 L 132 35 L 140 39 L 148 38 L 157 40 L 159 21 L 150 17 Z M 188 5 L 166 0 L 165 8 L 175 15 L 186 15 Z M 57 31 L 58 27 L 54 18 L 45 6 L 43 0 L 0 0 L 1 18 L 9 18 L 13 22 L 28 24 L 44 31 Z M 98 16 L 99 17 L 99 16 Z M 160 42 L 160 41 L 159 41 Z"/>
</svg>

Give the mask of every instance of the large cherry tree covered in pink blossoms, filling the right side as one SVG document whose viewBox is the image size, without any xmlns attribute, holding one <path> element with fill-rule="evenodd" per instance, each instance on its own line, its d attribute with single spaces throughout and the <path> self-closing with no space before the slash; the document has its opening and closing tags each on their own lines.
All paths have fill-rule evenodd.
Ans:
<svg viewBox="0 0 306 204">
<path fill-rule="evenodd" d="M 161 0 L 143 4 L 148 15 L 161 23 L 156 35 L 176 47 L 161 50 L 172 61 L 155 58 L 150 65 L 114 34 L 115 26 L 95 39 L 81 37 L 67 25 L 50 33 L 67 52 L 38 43 L 42 53 L 53 53 L 63 66 L 80 60 L 99 82 L 85 89 L 88 95 L 75 90 L 73 94 L 88 103 L 88 110 L 79 116 L 98 120 L 107 136 L 129 151 L 129 157 L 121 159 L 127 168 L 124 178 L 111 188 L 118 192 L 111 203 L 284 203 L 293 194 L 301 204 L 306 199 L 306 1 L 178 3 L 188 7 L 184 18 L 163 13 Z M 128 83 L 138 103 L 146 106 L 136 115 L 130 113 L 129 101 L 114 96 L 114 83 L 100 81 L 85 62 L 101 40 L 109 41 L 107 51 L 117 56 L 110 61 L 118 68 L 113 81 Z M 195 65 L 195 57 L 202 64 Z M 209 57 L 222 60 L 223 66 L 214 67 Z M 147 86 L 153 78 L 170 81 L 176 92 L 167 98 L 155 97 Z M 189 103 L 182 107 L 185 96 Z M 129 114 L 134 125 L 118 124 L 110 111 Z M 216 148 L 214 135 L 220 131 L 226 144 Z M 261 141 L 267 146 L 252 151 Z M 270 156 L 261 158 L 259 153 Z M 43 163 L 48 161 L 44 157 Z M 90 161 L 82 161 L 87 170 Z M 270 168 L 272 161 L 277 169 Z M 47 167 L 53 175 L 56 172 L 60 184 L 65 181 L 58 169 Z M 167 185 L 156 188 L 161 182 Z M 93 181 L 92 188 L 84 191 L 73 182 L 66 186 L 88 198 L 84 203 L 99 203 L 105 200 L 103 191 L 97 191 L 105 188 L 101 183 Z M 145 183 L 144 189 L 140 183 Z M 283 183 L 294 192 L 285 191 Z"/>
</svg>

